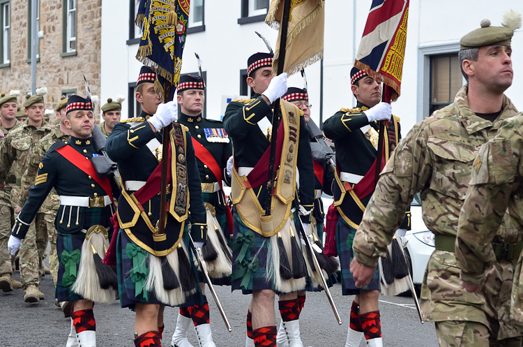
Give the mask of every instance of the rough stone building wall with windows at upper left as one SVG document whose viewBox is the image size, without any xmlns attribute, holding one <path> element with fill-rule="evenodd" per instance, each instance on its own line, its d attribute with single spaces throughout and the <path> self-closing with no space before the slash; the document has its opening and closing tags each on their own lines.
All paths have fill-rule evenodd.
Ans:
<svg viewBox="0 0 523 347">
<path fill-rule="evenodd" d="M 0 92 L 20 89 L 19 105 L 31 91 L 31 64 L 28 63 L 28 6 L 31 0 L 10 0 L 10 66 L 0 68 Z M 92 95 L 100 95 L 100 42 L 102 0 L 77 0 L 77 55 L 61 57 L 63 0 L 40 0 L 40 61 L 36 64 L 36 87 L 47 87 L 45 108 L 56 107 L 61 93 L 76 89 L 86 96 L 85 75 Z M 29 28 L 30 29 L 30 28 Z M 54 117 L 54 115 L 53 115 Z M 100 119 L 100 105 L 95 106 Z"/>
</svg>

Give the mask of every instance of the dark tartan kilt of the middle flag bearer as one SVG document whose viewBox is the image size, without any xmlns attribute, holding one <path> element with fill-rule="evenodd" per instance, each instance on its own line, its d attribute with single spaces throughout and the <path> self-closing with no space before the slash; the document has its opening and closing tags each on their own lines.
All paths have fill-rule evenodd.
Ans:
<svg viewBox="0 0 523 347">
<path fill-rule="evenodd" d="M 252 290 L 261 290 L 261 289 L 271 289 L 275 290 L 275 283 L 272 281 L 268 281 L 266 279 L 266 263 L 267 263 L 267 256 L 268 252 L 270 251 L 270 242 L 269 237 L 264 237 L 259 235 L 257 232 L 251 230 L 248 226 L 245 226 L 243 221 L 241 221 L 240 216 L 238 215 L 238 212 L 236 212 L 236 208 L 232 210 L 232 217 L 233 217 L 233 241 L 236 242 L 236 239 L 238 238 L 238 235 L 244 235 L 246 232 L 252 232 L 255 235 L 255 244 L 253 246 L 248 246 L 248 251 L 245 255 L 245 258 L 248 259 L 250 257 L 258 258 L 258 269 L 255 272 L 252 272 L 250 274 L 250 281 L 248 283 L 248 286 L 246 288 L 241 286 L 241 282 L 243 281 L 243 278 L 240 279 L 232 279 L 231 286 L 232 290 L 241 290 L 244 295 L 252 294 Z M 234 277 L 234 273 L 238 272 L 238 266 L 236 265 L 236 259 L 238 258 L 238 254 L 240 253 L 240 249 L 235 249 L 232 251 L 232 276 Z"/>
</svg>

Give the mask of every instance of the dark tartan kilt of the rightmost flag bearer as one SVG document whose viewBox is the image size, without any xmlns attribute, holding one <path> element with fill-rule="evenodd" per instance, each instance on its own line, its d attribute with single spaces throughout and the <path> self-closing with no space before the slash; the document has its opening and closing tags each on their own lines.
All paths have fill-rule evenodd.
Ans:
<svg viewBox="0 0 523 347">
<path fill-rule="evenodd" d="M 338 213 L 338 212 L 337 212 Z M 356 235 L 356 229 L 352 228 L 338 214 L 338 224 L 336 225 L 336 248 L 340 257 L 341 283 L 343 295 L 357 295 L 360 289 L 356 288 L 354 278 L 350 271 L 351 260 L 354 257 L 352 252 L 352 242 Z M 363 290 L 379 290 L 379 270 L 372 275 L 370 283 Z"/>
</svg>

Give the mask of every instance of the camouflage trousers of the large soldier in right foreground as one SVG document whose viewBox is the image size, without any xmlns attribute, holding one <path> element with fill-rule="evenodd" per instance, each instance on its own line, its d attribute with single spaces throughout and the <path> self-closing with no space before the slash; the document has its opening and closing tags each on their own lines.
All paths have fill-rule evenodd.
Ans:
<svg viewBox="0 0 523 347">
<path fill-rule="evenodd" d="M 521 347 L 522 337 L 497 340 L 490 337 L 486 325 L 476 322 L 436 322 L 440 347 Z"/>
</svg>

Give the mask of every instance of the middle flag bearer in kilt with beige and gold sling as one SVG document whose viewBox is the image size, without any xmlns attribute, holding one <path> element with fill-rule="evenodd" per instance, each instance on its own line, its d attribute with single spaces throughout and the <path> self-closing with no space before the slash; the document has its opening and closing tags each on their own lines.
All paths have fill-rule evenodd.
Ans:
<svg viewBox="0 0 523 347">
<path fill-rule="evenodd" d="M 303 112 L 282 101 L 278 131 L 281 149 L 277 149 L 275 161 L 275 167 L 280 168 L 272 200 L 273 214 L 264 216 L 271 105 L 287 91 L 287 74 L 275 77 L 272 60 L 273 54 L 267 53 L 253 54 L 248 59 L 247 83 L 255 92 L 254 98 L 229 103 L 223 119 L 234 146 L 232 290 L 252 293 L 247 315 L 248 346 L 276 346 L 275 293 L 280 295 L 280 307 L 285 308 L 280 311 L 284 321 L 293 320 L 298 314 L 296 292 L 305 288 L 307 269 L 299 232 L 291 220 L 291 204 L 299 198 L 300 218 L 309 223 L 314 201 L 312 156 Z M 301 186 L 298 197 L 296 166 Z M 289 329 L 299 339 L 298 326 Z"/>
</svg>

